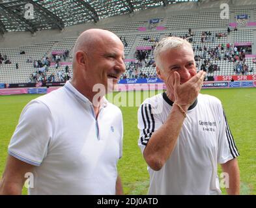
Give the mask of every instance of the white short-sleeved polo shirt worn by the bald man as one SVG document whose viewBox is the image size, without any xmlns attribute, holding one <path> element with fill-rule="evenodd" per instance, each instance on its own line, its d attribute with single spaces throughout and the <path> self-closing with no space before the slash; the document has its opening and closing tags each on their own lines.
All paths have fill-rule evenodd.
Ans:
<svg viewBox="0 0 256 208">
<path fill-rule="evenodd" d="M 21 112 L 8 152 L 35 165 L 29 194 L 115 194 L 122 156 L 122 113 L 92 103 L 68 81 Z"/>
</svg>

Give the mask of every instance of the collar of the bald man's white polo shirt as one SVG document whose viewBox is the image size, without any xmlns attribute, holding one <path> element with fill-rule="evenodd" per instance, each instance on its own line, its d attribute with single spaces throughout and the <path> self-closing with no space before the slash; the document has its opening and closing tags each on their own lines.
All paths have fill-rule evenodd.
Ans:
<svg viewBox="0 0 256 208">
<path fill-rule="evenodd" d="M 91 104 L 91 101 L 89 101 L 88 98 L 86 98 L 83 94 L 81 94 L 72 84 L 70 81 L 66 81 L 66 84 L 64 85 L 64 88 L 66 90 L 68 90 L 68 92 L 70 92 L 74 97 L 76 97 L 77 99 L 83 101 L 83 103 L 88 103 Z M 107 99 L 105 98 L 105 96 L 102 98 L 101 103 L 100 103 L 100 107 L 106 107 L 107 106 Z"/>
</svg>

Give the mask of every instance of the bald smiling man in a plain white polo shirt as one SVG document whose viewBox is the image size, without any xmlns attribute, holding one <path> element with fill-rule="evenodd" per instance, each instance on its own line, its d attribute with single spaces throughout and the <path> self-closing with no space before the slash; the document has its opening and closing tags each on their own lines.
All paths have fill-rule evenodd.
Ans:
<svg viewBox="0 0 256 208">
<path fill-rule="evenodd" d="M 122 194 L 122 114 L 104 95 L 124 72 L 112 32 L 90 29 L 74 46 L 73 77 L 29 102 L 8 146 L 0 194 Z"/>
</svg>

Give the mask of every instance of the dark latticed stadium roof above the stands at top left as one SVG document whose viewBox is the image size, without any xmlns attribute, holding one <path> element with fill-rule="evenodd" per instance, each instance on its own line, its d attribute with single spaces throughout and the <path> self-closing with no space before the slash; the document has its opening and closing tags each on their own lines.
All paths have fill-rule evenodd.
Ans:
<svg viewBox="0 0 256 208">
<path fill-rule="evenodd" d="M 0 0 L 0 33 L 62 30 L 70 25 L 186 1 L 197 0 Z"/>
</svg>

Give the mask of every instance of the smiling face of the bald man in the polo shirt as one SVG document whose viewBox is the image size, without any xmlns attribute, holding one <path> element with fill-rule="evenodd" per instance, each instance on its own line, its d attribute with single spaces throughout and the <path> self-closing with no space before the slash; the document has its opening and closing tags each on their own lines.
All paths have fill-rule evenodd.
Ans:
<svg viewBox="0 0 256 208">
<path fill-rule="evenodd" d="M 93 85 L 102 84 L 105 86 L 106 93 L 113 91 L 125 72 L 124 66 L 124 47 L 117 38 L 102 40 L 98 46 L 92 49 L 89 54 L 90 80 Z"/>
</svg>

